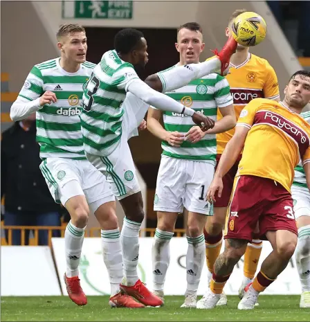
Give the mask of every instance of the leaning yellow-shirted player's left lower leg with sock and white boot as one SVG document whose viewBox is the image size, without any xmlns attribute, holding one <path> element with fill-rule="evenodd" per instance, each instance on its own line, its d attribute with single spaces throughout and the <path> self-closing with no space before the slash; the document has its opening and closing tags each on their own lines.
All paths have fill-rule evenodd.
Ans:
<svg viewBox="0 0 310 322">
<path fill-rule="evenodd" d="M 227 239 L 224 253 L 215 261 L 214 272 L 208 292 L 197 302 L 197 309 L 214 308 L 223 292 L 224 286 L 233 273 L 233 269 L 246 251 L 248 240 Z"/>
</svg>

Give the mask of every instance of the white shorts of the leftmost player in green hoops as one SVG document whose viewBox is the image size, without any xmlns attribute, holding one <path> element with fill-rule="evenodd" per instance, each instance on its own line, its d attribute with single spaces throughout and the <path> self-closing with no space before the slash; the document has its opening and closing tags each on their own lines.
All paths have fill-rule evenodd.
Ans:
<svg viewBox="0 0 310 322">
<path fill-rule="evenodd" d="M 57 203 L 65 205 L 71 197 L 84 195 L 95 213 L 100 205 L 115 201 L 107 180 L 87 160 L 47 158 L 40 169 Z"/>
</svg>

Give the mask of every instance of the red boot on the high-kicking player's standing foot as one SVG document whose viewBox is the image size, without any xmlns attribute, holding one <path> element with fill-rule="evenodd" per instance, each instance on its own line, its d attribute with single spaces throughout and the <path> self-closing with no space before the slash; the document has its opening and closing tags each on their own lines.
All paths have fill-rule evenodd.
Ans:
<svg viewBox="0 0 310 322">
<path fill-rule="evenodd" d="M 161 306 L 163 305 L 163 300 L 149 292 L 149 290 L 145 287 L 144 283 L 140 280 L 136 281 L 134 286 L 126 286 L 120 284 L 120 289 L 127 295 L 136 298 L 139 302 L 143 303 L 145 306 Z"/>
</svg>

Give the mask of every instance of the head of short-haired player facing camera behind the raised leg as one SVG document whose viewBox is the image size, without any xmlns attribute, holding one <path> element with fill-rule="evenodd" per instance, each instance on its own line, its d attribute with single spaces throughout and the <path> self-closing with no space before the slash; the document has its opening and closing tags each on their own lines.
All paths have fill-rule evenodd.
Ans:
<svg viewBox="0 0 310 322">
<path fill-rule="evenodd" d="M 180 53 L 181 64 L 199 62 L 199 55 L 205 48 L 202 29 L 197 22 L 188 22 L 178 28 L 176 50 Z"/>
</svg>

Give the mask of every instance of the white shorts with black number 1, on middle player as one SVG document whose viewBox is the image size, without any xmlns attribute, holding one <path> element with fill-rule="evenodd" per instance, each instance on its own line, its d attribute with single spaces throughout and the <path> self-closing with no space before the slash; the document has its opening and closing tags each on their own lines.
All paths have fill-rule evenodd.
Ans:
<svg viewBox="0 0 310 322">
<path fill-rule="evenodd" d="M 212 215 L 206 194 L 214 173 L 211 163 L 161 156 L 154 211 L 182 213 L 184 206 L 194 213 Z"/>
</svg>

